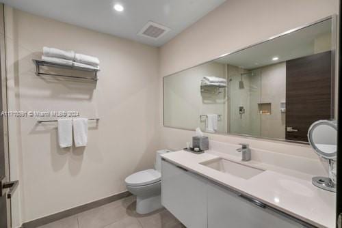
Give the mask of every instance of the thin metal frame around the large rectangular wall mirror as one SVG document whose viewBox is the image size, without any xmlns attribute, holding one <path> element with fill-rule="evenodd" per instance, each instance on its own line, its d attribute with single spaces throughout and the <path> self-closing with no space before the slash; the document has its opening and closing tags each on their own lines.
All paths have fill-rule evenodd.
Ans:
<svg viewBox="0 0 342 228">
<path fill-rule="evenodd" d="M 309 23 L 307 25 L 296 27 L 295 29 L 289 29 L 288 31 L 285 31 L 285 32 L 280 33 L 278 35 L 274 35 L 274 36 L 272 36 L 270 38 L 267 38 L 265 40 L 261 40 L 260 42 L 257 42 L 257 43 L 254 43 L 254 44 L 250 44 L 248 46 L 245 46 L 244 48 L 239 48 L 239 49 L 237 49 L 235 51 L 232 51 L 230 53 L 225 53 L 223 55 L 220 55 L 219 57 L 215 57 L 214 59 L 211 59 L 209 61 L 205 61 L 205 62 L 199 63 L 196 66 L 192 66 L 190 68 L 186 68 L 186 69 L 180 70 L 178 72 L 174 72 L 172 74 L 168 74 L 166 76 L 163 76 L 163 127 L 165 127 L 165 128 L 180 129 L 180 130 L 191 130 L 191 131 L 195 130 L 195 129 L 192 129 L 192 128 L 177 128 L 177 127 L 168 126 L 168 125 L 165 124 L 165 112 L 164 112 L 165 111 L 165 87 L 164 87 L 164 83 L 165 83 L 165 78 L 166 77 L 172 76 L 174 74 L 178 74 L 180 72 L 184 72 L 185 70 L 196 68 L 197 66 L 201 66 L 201 65 L 203 65 L 205 63 L 209 63 L 209 62 L 214 61 L 216 59 L 220 59 L 222 57 L 226 57 L 228 55 L 232 55 L 234 53 L 238 53 L 239 51 L 244 51 L 245 49 L 250 48 L 252 46 L 257 46 L 259 44 L 263 44 L 265 42 L 274 40 L 276 38 L 280 38 L 282 36 L 289 35 L 289 34 L 295 32 L 295 31 L 299 31 L 300 29 L 305 29 L 306 27 L 309 27 L 309 26 L 312 26 L 312 25 L 324 22 L 326 20 L 331 20 L 331 68 L 332 68 L 332 71 L 331 71 L 332 75 L 331 75 L 331 77 L 332 77 L 332 80 L 334 80 L 335 79 L 336 70 L 337 70 L 335 66 L 338 66 L 337 58 L 336 58 L 336 50 L 337 50 L 337 14 L 332 14 L 332 15 L 327 16 L 325 18 L 321 18 L 319 20 L 316 20 L 313 23 Z M 334 84 L 335 84 L 335 86 L 337 86 L 337 83 L 334 83 Z M 334 98 L 334 99 L 332 99 L 332 102 L 336 102 L 336 100 L 337 100 L 335 98 L 335 94 L 337 94 L 337 91 L 335 91 L 335 90 L 336 89 L 334 87 L 333 90 L 332 90 L 332 91 L 334 91 L 334 94 L 332 94 L 332 97 Z M 332 104 L 332 106 L 335 106 L 335 104 Z M 336 110 L 336 108 L 331 110 L 330 116 L 334 116 L 336 114 L 336 113 L 334 113 L 334 110 Z M 276 138 L 269 138 L 269 137 L 256 137 L 256 136 L 253 136 L 253 135 L 250 135 L 250 134 L 237 134 L 237 133 L 231 133 L 231 132 L 227 132 L 227 133 L 204 132 L 204 133 L 205 134 L 218 134 L 218 135 L 231 135 L 231 136 L 237 136 L 237 137 L 248 137 L 248 138 L 252 138 L 252 139 L 265 139 L 265 140 L 269 140 L 269 141 L 281 141 L 281 142 L 285 142 L 285 143 L 298 143 L 298 144 L 304 144 L 304 145 L 309 145 L 310 144 L 310 143 L 304 142 L 304 141 L 294 141 L 294 140 L 287 140 L 287 139 L 276 139 Z"/>
</svg>

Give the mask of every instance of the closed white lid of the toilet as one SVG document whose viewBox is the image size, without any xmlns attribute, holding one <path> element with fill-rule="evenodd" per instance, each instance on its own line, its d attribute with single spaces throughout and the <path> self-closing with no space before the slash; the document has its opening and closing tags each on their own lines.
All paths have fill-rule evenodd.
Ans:
<svg viewBox="0 0 342 228">
<path fill-rule="evenodd" d="M 124 182 L 129 186 L 142 186 L 147 184 L 153 184 L 159 182 L 161 178 L 161 173 L 155 169 L 147 169 L 137 173 L 133 173 L 126 177 Z"/>
</svg>

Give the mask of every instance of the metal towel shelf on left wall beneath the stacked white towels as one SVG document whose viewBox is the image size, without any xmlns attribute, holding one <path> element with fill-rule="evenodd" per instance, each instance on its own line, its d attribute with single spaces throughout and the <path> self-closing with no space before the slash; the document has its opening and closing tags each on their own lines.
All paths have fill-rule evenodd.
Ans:
<svg viewBox="0 0 342 228">
<path fill-rule="evenodd" d="M 36 75 L 48 75 L 48 76 L 62 76 L 66 78 L 73 78 L 73 79 L 86 79 L 86 80 L 93 80 L 97 81 L 97 72 L 100 70 L 96 69 L 90 69 L 90 68 L 82 68 L 79 66 L 66 66 L 63 64 L 58 64 L 58 63 L 51 63 L 47 61 L 42 61 L 42 60 L 37 60 L 37 59 L 32 59 L 34 61 L 34 64 L 36 65 Z M 82 76 L 71 76 L 71 75 L 64 75 L 64 74 L 52 74 L 52 73 L 43 73 L 40 72 L 40 67 L 41 66 L 46 66 L 46 67 L 51 67 L 51 68 L 60 68 L 60 69 L 66 69 L 66 70 L 80 70 L 80 71 L 86 71 L 86 72 L 93 72 L 94 77 L 82 77 Z"/>
</svg>

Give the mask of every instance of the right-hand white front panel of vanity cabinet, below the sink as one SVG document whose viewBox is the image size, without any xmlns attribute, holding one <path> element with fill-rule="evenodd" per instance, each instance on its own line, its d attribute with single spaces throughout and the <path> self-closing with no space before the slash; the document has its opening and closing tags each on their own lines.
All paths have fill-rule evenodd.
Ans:
<svg viewBox="0 0 342 228">
<path fill-rule="evenodd" d="M 292 228 L 300 223 L 213 183 L 207 184 L 208 228 Z"/>
</svg>

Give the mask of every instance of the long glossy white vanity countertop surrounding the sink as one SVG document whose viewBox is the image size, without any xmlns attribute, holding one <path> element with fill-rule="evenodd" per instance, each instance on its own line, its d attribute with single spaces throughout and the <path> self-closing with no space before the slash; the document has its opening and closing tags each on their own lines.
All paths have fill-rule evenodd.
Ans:
<svg viewBox="0 0 342 228">
<path fill-rule="evenodd" d="M 175 165 L 248 195 L 307 223 L 317 227 L 335 227 L 336 194 L 313 186 L 311 175 L 253 160 L 241 162 L 236 156 L 212 150 L 203 154 L 193 154 L 181 150 L 161 154 L 161 156 Z M 220 157 L 265 171 L 245 180 L 200 164 Z"/>
</svg>

